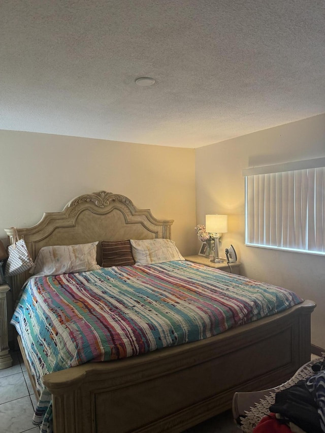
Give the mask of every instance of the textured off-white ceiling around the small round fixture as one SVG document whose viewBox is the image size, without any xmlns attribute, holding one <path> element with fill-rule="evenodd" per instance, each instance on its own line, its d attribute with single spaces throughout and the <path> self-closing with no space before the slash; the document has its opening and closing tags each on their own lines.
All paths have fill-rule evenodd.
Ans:
<svg viewBox="0 0 325 433">
<path fill-rule="evenodd" d="M 324 22 L 323 0 L 1 0 L 0 129 L 195 148 L 314 116 Z"/>
</svg>

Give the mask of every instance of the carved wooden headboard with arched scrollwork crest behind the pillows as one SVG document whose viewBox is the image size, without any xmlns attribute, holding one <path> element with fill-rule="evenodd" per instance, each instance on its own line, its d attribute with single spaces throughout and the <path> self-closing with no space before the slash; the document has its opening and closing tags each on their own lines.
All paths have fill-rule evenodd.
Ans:
<svg viewBox="0 0 325 433">
<path fill-rule="evenodd" d="M 125 239 L 171 239 L 173 220 L 158 220 L 149 209 L 137 209 L 132 201 L 120 194 L 99 191 L 72 199 L 61 212 L 45 213 L 32 227 L 17 228 L 33 259 L 42 247 L 74 245 L 99 241 L 97 260 L 102 264 L 101 241 Z M 5 230 L 13 242 L 12 228 Z M 14 301 L 28 271 L 12 279 Z"/>
</svg>

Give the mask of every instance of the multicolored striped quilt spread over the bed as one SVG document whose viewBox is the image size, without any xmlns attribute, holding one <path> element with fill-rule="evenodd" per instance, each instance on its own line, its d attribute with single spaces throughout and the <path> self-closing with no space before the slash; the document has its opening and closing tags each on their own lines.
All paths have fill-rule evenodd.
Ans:
<svg viewBox="0 0 325 433">
<path fill-rule="evenodd" d="M 34 422 L 48 431 L 47 373 L 202 340 L 302 301 L 188 261 L 30 278 L 11 323 L 41 391 Z"/>
</svg>

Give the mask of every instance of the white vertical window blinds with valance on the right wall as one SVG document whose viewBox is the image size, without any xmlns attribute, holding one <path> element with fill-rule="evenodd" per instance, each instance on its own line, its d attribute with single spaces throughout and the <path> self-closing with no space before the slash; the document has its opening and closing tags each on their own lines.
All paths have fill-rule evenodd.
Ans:
<svg viewBox="0 0 325 433">
<path fill-rule="evenodd" d="M 325 158 L 244 170 L 246 245 L 325 254 L 325 168 L 304 165 Z"/>
</svg>

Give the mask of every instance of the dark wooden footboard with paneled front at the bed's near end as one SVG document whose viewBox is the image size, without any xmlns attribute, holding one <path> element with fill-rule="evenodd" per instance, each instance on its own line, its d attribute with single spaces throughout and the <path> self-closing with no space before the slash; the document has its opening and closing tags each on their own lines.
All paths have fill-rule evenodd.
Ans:
<svg viewBox="0 0 325 433">
<path fill-rule="evenodd" d="M 55 433 L 179 432 L 310 359 L 311 301 L 196 343 L 44 377 Z"/>
</svg>

